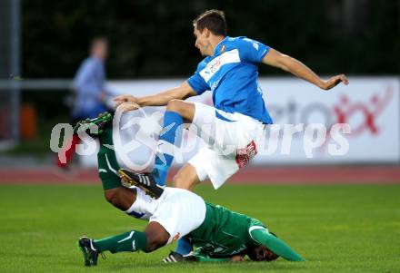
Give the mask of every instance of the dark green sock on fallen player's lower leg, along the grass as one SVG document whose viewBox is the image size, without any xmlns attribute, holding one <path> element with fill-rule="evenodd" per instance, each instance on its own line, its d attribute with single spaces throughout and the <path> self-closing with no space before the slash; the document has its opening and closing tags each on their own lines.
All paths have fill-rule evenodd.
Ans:
<svg viewBox="0 0 400 273">
<path fill-rule="evenodd" d="M 145 250 L 147 245 L 147 238 L 144 232 L 130 231 L 120 235 L 107 237 L 105 239 L 96 239 L 93 241 L 95 249 L 100 252 L 105 250 L 111 253 L 117 253 L 122 251 L 137 251 Z"/>
</svg>

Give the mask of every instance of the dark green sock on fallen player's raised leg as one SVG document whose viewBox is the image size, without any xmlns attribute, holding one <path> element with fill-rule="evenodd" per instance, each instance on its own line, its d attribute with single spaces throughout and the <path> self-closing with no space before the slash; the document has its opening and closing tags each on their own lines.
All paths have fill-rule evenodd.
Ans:
<svg viewBox="0 0 400 273">
<path fill-rule="evenodd" d="M 116 173 L 119 170 L 119 165 L 116 161 L 115 151 L 108 146 L 113 145 L 113 128 L 111 126 L 105 128 L 105 132 L 99 136 L 99 141 L 100 150 L 97 153 L 97 163 L 98 175 L 102 180 L 103 189 L 109 190 L 120 187 L 121 179 Z"/>
</svg>

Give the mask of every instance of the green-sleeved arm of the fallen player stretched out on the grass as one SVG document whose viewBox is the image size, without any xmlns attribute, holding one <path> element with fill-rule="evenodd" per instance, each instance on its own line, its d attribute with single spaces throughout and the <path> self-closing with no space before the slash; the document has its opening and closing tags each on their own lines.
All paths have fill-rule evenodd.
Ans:
<svg viewBox="0 0 400 273">
<path fill-rule="evenodd" d="M 276 238 L 265 229 L 254 229 L 250 234 L 255 241 L 282 258 L 291 261 L 305 261 L 303 257 L 291 249 L 282 239 Z"/>
</svg>

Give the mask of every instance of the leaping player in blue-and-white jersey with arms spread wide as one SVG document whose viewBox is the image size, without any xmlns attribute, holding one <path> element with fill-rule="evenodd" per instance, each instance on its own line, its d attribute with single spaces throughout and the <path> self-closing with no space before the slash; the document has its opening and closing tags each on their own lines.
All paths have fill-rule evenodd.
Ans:
<svg viewBox="0 0 400 273">
<path fill-rule="evenodd" d="M 206 11 L 193 23 L 195 47 L 205 59 L 185 83 L 151 96 L 115 97 L 115 105 L 125 111 L 166 105 L 153 170 L 130 174 L 137 187 L 155 197 L 165 187 L 184 121 L 195 126 L 197 135 L 207 145 L 178 171 L 173 180 L 175 187 L 192 190 L 202 180 L 209 179 L 217 189 L 255 157 L 258 143 L 265 138 L 266 126 L 273 123 L 257 83 L 259 63 L 285 70 L 323 90 L 348 83 L 345 74 L 323 80 L 304 63 L 268 45 L 246 37 L 227 36 L 225 15 L 221 11 Z M 213 92 L 214 107 L 184 101 L 207 90 Z M 178 252 L 185 254 L 179 249 Z"/>
</svg>

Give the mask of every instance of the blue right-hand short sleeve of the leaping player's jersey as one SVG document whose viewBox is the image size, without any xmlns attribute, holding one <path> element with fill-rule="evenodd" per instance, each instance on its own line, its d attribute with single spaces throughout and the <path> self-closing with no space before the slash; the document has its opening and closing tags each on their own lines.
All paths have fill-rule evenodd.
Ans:
<svg viewBox="0 0 400 273">
<path fill-rule="evenodd" d="M 242 39 L 239 47 L 241 58 L 252 63 L 261 63 L 269 49 L 268 45 L 249 38 Z"/>
</svg>

